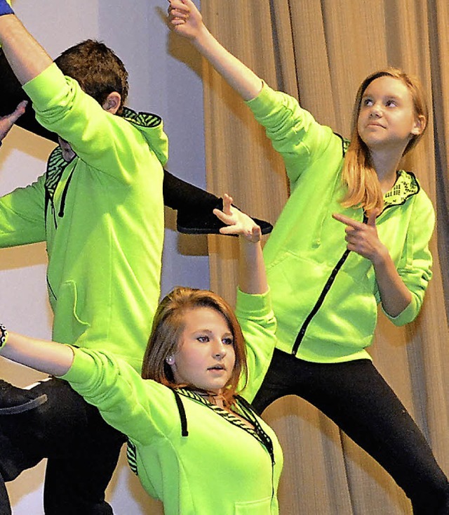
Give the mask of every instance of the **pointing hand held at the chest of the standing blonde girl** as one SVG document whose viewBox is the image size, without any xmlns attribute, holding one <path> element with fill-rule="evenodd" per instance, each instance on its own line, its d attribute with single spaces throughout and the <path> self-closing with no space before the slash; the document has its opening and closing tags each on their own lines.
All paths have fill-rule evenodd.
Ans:
<svg viewBox="0 0 449 515">
<path fill-rule="evenodd" d="M 373 264 L 377 259 L 381 259 L 387 247 L 383 245 L 377 235 L 376 217 L 378 211 L 375 209 L 370 212 L 367 223 L 359 222 L 339 213 L 334 213 L 333 219 L 344 223 L 346 228 L 345 240 L 347 249 L 360 254 L 369 259 Z"/>
</svg>

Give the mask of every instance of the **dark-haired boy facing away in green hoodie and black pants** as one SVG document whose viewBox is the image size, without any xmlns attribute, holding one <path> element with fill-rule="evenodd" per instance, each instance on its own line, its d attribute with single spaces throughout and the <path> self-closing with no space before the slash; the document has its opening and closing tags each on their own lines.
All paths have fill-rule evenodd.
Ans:
<svg viewBox="0 0 449 515">
<path fill-rule="evenodd" d="M 0 43 L 39 124 L 60 142 L 46 174 L 1 197 L 0 247 L 46 241 L 53 339 L 115 353 L 140 372 L 159 300 L 161 119 L 123 107 L 127 73 L 104 44 L 69 48 L 57 60 L 64 75 L 5 0 Z M 18 115 L 0 120 L 0 136 Z M 105 488 L 123 441 L 65 382 L 0 384 L 0 476 L 11 481 L 48 457 L 47 515 L 111 514 Z M 11 514 L 1 478 L 0 514 Z"/>
</svg>

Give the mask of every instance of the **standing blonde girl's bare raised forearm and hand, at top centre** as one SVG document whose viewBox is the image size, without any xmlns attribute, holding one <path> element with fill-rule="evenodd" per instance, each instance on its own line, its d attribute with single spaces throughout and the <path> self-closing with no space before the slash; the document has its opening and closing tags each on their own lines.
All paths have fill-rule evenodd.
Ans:
<svg viewBox="0 0 449 515">
<path fill-rule="evenodd" d="M 169 0 L 169 27 L 192 41 L 195 48 L 232 86 L 243 100 L 252 100 L 262 89 L 262 79 L 229 53 L 203 24 L 201 13 L 192 0 Z"/>
</svg>

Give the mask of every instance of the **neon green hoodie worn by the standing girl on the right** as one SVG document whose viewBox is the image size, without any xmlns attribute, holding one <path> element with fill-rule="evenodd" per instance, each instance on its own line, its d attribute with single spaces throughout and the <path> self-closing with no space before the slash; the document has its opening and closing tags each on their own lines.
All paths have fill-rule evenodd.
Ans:
<svg viewBox="0 0 449 515">
<path fill-rule="evenodd" d="M 317 363 L 369 358 L 377 322 L 373 266 L 355 252 L 345 256 L 342 213 L 363 220 L 361 209 L 344 209 L 343 141 L 318 124 L 297 100 L 264 85 L 248 105 L 274 149 L 283 157 L 291 195 L 276 223 L 264 259 L 278 320 L 278 348 Z M 431 278 L 428 242 L 434 209 L 413 174 L 398 173 L 384 196 L 377 233 L 412 293 L 410 305 L 391 321 L 402 325 L 420 311 Z"/>
</svg>

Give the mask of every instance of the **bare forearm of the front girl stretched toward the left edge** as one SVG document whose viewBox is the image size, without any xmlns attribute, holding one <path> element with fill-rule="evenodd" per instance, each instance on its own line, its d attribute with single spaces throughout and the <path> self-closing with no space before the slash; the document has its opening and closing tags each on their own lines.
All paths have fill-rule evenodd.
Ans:
<svg viewBox="0 0 449 515">
<path fill-rule="evenodd" d="M 39 372 L 61 376 L 72 366 L 74 354 L 67 345 L 7 332 L 0 325 L 0 356 Z"/>
</svg>

